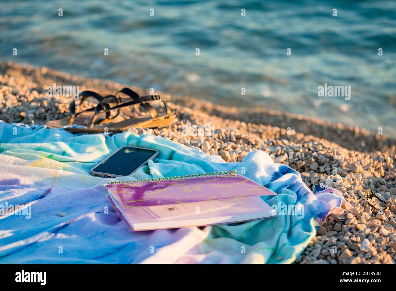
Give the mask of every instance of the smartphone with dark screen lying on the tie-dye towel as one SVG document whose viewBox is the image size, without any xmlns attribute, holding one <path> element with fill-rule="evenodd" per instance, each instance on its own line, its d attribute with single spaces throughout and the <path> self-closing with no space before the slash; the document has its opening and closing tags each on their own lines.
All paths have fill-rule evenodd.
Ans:
<svg viewBox="0 0 396 291">
<path fill-rule="evenodd" d="M 122 146 L 90 171 L 92 176 L 115 178 L 129 176 L 158 156 L 158 150 L 138 146 Z"/>
</svg>

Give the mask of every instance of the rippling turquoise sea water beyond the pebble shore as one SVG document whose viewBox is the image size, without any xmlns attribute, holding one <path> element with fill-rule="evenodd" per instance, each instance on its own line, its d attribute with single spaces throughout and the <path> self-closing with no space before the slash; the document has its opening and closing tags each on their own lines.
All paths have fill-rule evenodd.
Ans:
<svg viewBox="0 0 396 291">
<path fill-rule="evenodd" d="M 0 31 L 1 60 L 396 135 L 395 1 L 7 1 Z"/>
</svg>

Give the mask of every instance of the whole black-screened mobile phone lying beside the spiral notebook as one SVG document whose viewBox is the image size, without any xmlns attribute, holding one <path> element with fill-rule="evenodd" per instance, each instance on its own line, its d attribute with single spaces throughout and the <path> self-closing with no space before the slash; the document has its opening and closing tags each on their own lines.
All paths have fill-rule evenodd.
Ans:
<svg viewBox="0 0 396 291">
<path fill-rule="evenodd" d="M 128 176 L 155 153 L 155 150 L 125 146 L 93 168 L 93 171 Z"/>
</svg>

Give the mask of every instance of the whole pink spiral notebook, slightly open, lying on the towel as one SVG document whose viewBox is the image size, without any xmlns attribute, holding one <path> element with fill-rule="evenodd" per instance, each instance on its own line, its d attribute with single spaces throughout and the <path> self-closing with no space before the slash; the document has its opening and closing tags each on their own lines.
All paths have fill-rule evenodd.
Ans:
<svg viewBox="0 0 396 291">
<path fill-rule="evenodd" d="M 274 216 L 260 196 L 275 192 L 236 174 L 202 173 L 105 185 L 129 230 L 236 223 Z"/>
</svg>

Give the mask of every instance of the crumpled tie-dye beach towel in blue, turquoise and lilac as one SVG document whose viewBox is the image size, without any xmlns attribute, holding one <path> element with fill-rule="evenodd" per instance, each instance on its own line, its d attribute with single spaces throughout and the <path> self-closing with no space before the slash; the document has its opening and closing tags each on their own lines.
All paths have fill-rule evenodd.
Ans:
<svg viewBox="0 0 396 291">
<path fill-rule="evenodd" d="M 129 232 L 105 198 L 111 180 L 89 174 L 124 145 L 160 154 L 118 180 L 237 170 L 277 193 L 265 201 L 278 215 Z M 74 135 L 0 121 L 0 263 L 291 263 L 341 202 L 337 190 L 313 194 L 297 171 L 262 151 L 226 163 L 150 134 Z M 291 207 L 297 210 L 288 213 Z"/>
</svg>

